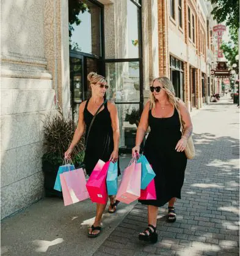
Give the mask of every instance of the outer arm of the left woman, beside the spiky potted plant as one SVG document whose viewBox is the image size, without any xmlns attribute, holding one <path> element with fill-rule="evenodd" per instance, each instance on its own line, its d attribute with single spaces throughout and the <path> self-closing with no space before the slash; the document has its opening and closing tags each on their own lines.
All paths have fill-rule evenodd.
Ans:
<svg viewBox="0 0 240 256">
<path fill-rule="evenodd" d="M 67 159 L 70 157 L 71 152 L 73 152 L 73 148 L 75 147 L 75 145 L 81 139 L 82 134 L 84 134 L 85 122 L 84 122 L 83 111 L 85 108 L 85 104 L 86 102 L 82 102 L 79 106 L 78 126 L 76 127 L 75 133 L 73 135 L 73 140 L 71 141 L 71 144 L 68 150 L 65 152 L 65 158 Z"/>
</svg>

